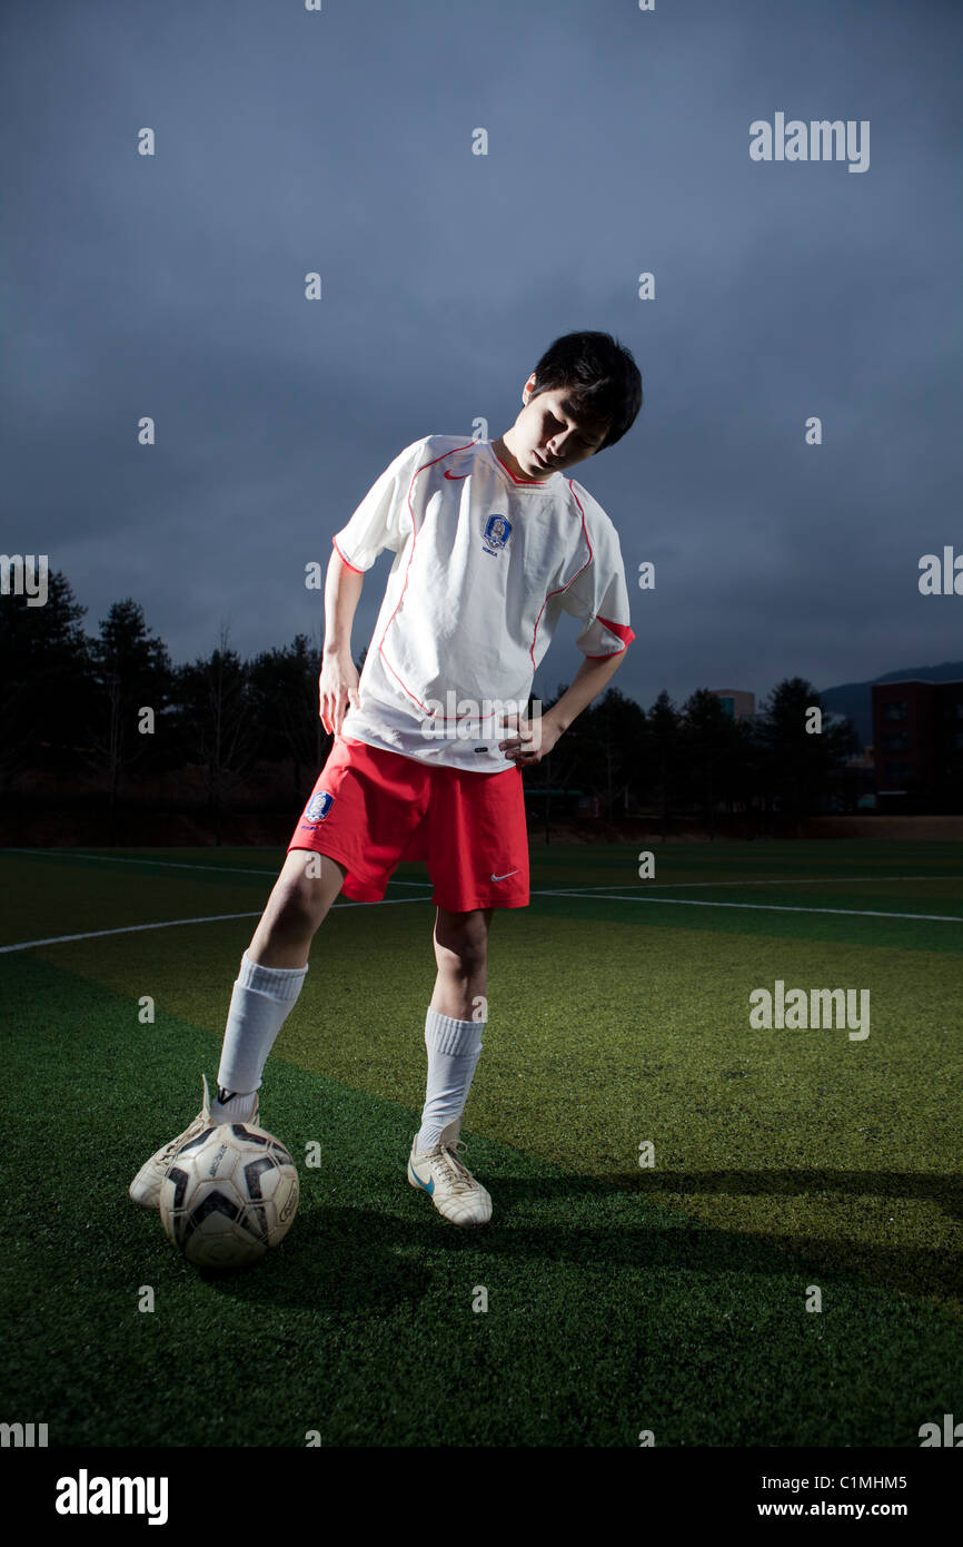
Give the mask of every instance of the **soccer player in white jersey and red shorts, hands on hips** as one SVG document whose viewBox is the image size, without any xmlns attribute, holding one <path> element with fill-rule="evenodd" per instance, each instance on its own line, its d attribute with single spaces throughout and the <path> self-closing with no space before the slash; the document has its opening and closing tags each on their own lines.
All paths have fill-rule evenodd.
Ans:
<svg viewBox="0 0 963 1547">
<path fill-rule="evenodd" d="M 564 475 L 615 446 L 640 407 L 626 348 L 607 333 L 566 334 L 529 376 L 510 430 L 407 446 L 332 538 L 318 695 L 334 746 L 241 959 L 216 1098 L 204 1078 L 201 1112 L 141 1166 L 134 1202 L 158 1207 L 189 1137 L 258 1122 L 264 1063 L 339 893 L 380 902 L 399 862 L 424 859 L 437 978 L 408 1182 L 458 1225 L 492 1217 L 459 1132 L 482 1050 L 492 914 L 529 903 L 521 770 L 603 692 L 635 637 L 618 534 Z M 359 679 L 351 623 L 385 548 L 396 558 Z M 583 625 L 586 659 L 558 702 L 530 718 L 533 674 L 563 611 Z"/>
</svg>

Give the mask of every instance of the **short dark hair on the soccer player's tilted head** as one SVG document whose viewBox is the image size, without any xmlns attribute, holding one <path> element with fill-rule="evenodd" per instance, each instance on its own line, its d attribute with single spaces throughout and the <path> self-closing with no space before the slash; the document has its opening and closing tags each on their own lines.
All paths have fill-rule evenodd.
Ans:
<svg viewBox="0 0 963 1547">
<path fill-rule="evenodd" d="M 535 367 L 532 398 L 556 387 L 570 388 L 580 418 L 609 425 L 600 452 L 621 441 L 641 408 L 638 367 L 611 333 L 566 333 L 549 345 Z"/>
</svg>

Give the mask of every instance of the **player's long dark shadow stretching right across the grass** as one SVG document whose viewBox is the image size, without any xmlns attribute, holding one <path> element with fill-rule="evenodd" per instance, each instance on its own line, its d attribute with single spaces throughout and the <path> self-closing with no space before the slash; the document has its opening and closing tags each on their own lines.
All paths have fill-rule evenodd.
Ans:
<svg viewBox="0 0 963 1547">
<path fill-rule="evenodd" d="M 479 1282 L 485 1282 L 484 1272 L 490 1272 L 493 1261 L 637 1272 L 645 1275 L 638 1281 L 640 1295 L 648 1284 L 655 1298 L 652 1275 L 717 1279 L 716 1299 L 725 1293 L 727 1278 L 784 1279 L 796 1272 L 801 1292 L 813 1281 L 825 1292 L 832 1278 L 841 1275 L 869 1281 L 880 1290 L 932 1299 L 948 1313 L 963 1310 L 960 1253 L 836 1236 L 723 1230 L 685 1214 L 685 1200 L 702 1194 L 827 1193 L 926 1197 L 958 1211 L 958 1190 L 941 1176 L 716 1171 L 640 1174 L 615 1183 L 578 1176 L 502 1176 L 492 1180 L 492 1191 L 496 1213 L 481 1228 L 451 1225 L 414 1191 L 393 1210 L 379 1208 L 374 1199 L 348 1208 L 303 1197 L 295 1227 L 281 1248 L 260 1264 L 258 1273 L 235 1270 L 204 1278 L 224 1293 L 254 1303 L 314 1306 L 345 1316 L 379 1315 L 405 1303 L 414 1312 L 437 1284 L 444 1264 L 459 1259 L 465 1259 L 468 1272 L 478 1272 Z M 558 1217 L 561 1210 L 566 1222 Z M 461 1269 L 459 1281 L 464 1281 Z"/>
</svg>

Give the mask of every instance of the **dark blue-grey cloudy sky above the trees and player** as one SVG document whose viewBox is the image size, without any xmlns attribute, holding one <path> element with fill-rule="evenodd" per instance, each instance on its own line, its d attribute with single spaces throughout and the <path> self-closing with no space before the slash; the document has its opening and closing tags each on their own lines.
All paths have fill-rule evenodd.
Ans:
<svg viewBox="0 0 963 1547">
<path fill-rule="evenodd" d="M 502 433 L 549 342 L 600 328 L 646 394 L 577 470 L 621 535 L 623 692 L 963 656 L 963 597 L 917 586 L 963 552 L 958 3 L 8 0 L 0 25 L 2 543 L 66 571 L 90 631 L 133 596 L 175 661 L 223 623 L 243 654 L 311 633 L 305 565 L 402 446 Z M 778 111 L 869 119 L 869 170 L 750 161 Z M 563 628 L 544 696 L 581 659 Z"/>
</svg>

